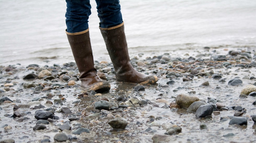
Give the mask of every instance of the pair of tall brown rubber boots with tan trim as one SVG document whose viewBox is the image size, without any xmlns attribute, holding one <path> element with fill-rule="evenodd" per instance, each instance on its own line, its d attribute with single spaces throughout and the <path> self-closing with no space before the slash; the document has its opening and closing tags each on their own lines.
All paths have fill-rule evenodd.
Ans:
<svg viewBox="0 0 256 143">
<path fill-rule="evenodd" d="M 142 74 L 132 67 L 124 33 L 124 23 L 112 28 L 100 28 L 100 30 L 113 63 L 117 81 L 147 85 L 156 83 L 158 80 L 156 76 Z M 96 74 L 89 29 L 77 33 L 66 31 L 66 33 L 80 72 L 81 87 L 85 91 L 94 90 L 97 93 L 109 91 L 108 81 L 101 80 Z"/>
</svg>

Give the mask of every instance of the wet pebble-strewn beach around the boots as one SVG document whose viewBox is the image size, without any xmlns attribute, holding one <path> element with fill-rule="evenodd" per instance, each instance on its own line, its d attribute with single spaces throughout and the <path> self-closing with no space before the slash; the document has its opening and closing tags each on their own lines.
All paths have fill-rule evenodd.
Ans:
<svg viewBox="0 0 256 143">
<path fill-rule="evenodd" d="M 154 85 L 85 92 L 74 62 L 0 65 L 0 142 L 256 142 L 256 47 L 130 55 Z"/>
</svg>

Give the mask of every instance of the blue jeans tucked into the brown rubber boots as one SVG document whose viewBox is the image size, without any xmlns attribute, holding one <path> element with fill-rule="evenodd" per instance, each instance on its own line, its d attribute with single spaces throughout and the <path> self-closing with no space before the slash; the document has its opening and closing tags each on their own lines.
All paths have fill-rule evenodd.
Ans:
<svg viewBox="0 0 256 143">
<path fill-rule="evenodd" d="M 119 0 L 95 0 L 101 28 L 110 28 L 123 23 Z M 75 33 L 89 28 L 88 19 L 91 15 L 90 0 L 66 0 L 67 32 Z"/>
</svg>

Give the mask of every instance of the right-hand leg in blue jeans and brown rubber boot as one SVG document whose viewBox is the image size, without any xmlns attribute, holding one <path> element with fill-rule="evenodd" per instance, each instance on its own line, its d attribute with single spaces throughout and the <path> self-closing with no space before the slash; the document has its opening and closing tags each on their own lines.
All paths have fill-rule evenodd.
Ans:
<svg viewBox="0 0 256 143">
<path fill-rule="evenodd" d="M 116 80 L 139 84 L 156 83 L 158 80 L 156 76 L 142 74 L 136 71 L 130 63 L 119 1 L 102 3 L 96 0 L 96 2 L 101 34 L 115 69 Z"/>
</svg>

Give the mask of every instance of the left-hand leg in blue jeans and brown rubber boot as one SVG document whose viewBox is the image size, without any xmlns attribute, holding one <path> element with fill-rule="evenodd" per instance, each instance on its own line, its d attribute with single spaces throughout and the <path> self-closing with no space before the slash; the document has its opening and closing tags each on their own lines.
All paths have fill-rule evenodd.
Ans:
<svg viewBox="0 0 256 143">
<path fill-rule="evenodd" d="M 66 2 L 66 33 L 75 63 L 80 72 L 81 87 L 85 91 L 109 91 L 110 84 L 106 80 L 101 80 L 96 74 L 97 70 L 94 68 L 88 28 L 88 17 L 91 13 L 90 2 L 89 0 L 66 0 Z"/>
</svg>

